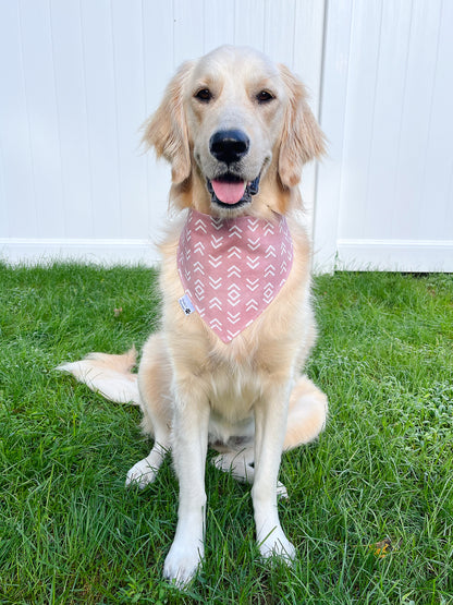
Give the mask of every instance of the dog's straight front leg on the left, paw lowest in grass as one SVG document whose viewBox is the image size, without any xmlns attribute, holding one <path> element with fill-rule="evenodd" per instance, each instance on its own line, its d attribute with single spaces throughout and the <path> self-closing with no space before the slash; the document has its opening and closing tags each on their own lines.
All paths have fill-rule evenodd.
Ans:
<svg viewBox="0 0 453 605">
<path fill-rule="evenodd" d="M 177 527 L 163 574 L 179 585 L 195 576 L 205 554 L 205 467 L 209 402 L 194 380 L 176 388 L 172 452 L 180 482 Z"/>
</svg>

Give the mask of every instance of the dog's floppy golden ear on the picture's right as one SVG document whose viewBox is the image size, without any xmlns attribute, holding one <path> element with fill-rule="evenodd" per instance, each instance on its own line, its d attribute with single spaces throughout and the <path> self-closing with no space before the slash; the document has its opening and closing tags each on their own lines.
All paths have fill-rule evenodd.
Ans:
<svg viewBox="0 0 453 605">
<path fill-rule="evenodd" d="M 285 65 L 279 65 L 289 105 L 280 141 L 279 174 L 285 186 L 301 180 L 302 167 L 325 153 L 325 135 L 307 104 L 305 87 Z"/>
</svg>

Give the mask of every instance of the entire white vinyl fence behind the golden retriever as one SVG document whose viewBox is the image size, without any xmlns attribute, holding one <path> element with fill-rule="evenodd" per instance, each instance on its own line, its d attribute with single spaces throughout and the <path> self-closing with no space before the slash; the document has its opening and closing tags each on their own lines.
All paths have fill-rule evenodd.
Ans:
<svg viewBox="0 0 453 605">
<path fill-rule="evenodd" d="M 154 262 L 169 171 L 138 128 L 175 66 L 255 46 L 330 141 L 304 173 L 315 263 L 453 270 L 450 0 L 0 3 L 0 257 Z"/>
</svg>

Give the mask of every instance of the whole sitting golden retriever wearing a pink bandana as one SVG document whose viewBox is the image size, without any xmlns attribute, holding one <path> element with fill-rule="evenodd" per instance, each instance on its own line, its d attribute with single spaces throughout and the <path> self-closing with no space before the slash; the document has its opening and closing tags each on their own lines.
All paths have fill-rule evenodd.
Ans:
<svg viewBox="0 0 453 605">
<path fill-rule="evenodd" d="M 154 447 L 127 473 L 145 487 L 171 450 L 180 485 L 164 577 L 183 586 L 204 558 L 205 465 L 253 485 L 262 557 L 291 561 L 278 515 L 281 456 L 315 439 L 327 397 L 299 375 L 315 342 L 310 244 L 297 220 L 303 165 L 325 150 L 303 84 L 249 48 L 184 63 L 144 125 L 171 165 L 181 210 L 160 245 L 161 330 L 135 352 L 60 366 L 143 411 Z"/>
</svg>

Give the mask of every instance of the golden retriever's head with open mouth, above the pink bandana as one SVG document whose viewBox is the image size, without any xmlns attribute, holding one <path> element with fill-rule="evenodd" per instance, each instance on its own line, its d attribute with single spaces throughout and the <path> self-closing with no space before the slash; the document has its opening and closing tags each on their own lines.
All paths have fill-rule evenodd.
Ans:
<svg viewBox="0 0 453 605">
<path fill-rule="evenodd" d="M 302 83 L 231 46 L 179 69 L 144 141 L 170 161 L 177 206 L 220 216 L 284 213 L 303 165 L 323 152 Z"/>
</svg>

